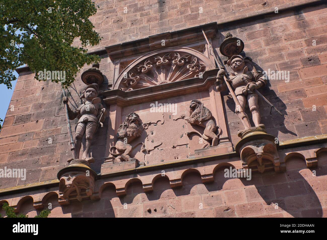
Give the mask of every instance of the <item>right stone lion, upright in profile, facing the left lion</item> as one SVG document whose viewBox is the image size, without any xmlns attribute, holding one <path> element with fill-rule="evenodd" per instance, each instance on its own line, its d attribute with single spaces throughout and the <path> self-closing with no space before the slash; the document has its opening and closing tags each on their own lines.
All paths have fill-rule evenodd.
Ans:
<svg viewBox="0 0 327 240">
<path fill-rule="evenodd" d="M 190 104 L 190 116 L 186 117 L 185 115 L 181 115 L 181 118 L 185 119 L 191 125 L 198 125 L 204 127 L 204 133 L 201 136 L 204 140 L 212 140 L 211 145 L 209 143 L 205 143 L 202 148 L 205 147 L 215 147 L 219 143 L 219 135 L 221 134 L 221 128 L 216 126 L 212 113 L 210 110 L 203 106 L 199 100 L 192 100 Z M 216 131 L 218 133 L 216 134 Z M 190 133 L 187 133 L 189 136 Z"/>
</svg>

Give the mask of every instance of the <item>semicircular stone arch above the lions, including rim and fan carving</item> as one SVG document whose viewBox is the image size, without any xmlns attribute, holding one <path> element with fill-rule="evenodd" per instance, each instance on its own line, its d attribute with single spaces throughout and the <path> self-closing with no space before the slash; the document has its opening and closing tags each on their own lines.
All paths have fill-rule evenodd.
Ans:
<svg viewBox="0 0 327 240">
<path fill-rule="evenodd" d="M 215 69 L 202 53 L 187 47 L 171 47 L 150 52 L 130 63 L 118 76 L 112 89 L 131 91 L 172 83 Z"/>
</svg>

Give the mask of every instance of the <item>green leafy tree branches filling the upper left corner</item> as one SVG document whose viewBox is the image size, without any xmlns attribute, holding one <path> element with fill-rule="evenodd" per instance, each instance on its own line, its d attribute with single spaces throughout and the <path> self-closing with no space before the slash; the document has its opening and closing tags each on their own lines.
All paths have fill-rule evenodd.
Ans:
<svg viewBox="0 0 327 240">
<path fill-rule="evenodd" d="M 100 59 L 86 49 L 100 40 L 88 19 L 95 13 L 90 0 L 0 0 L 0 84 L 11 88 L 13 71 L 26 63 L 35 78 L 44 69 L 65 71 L 69 86 L 85 63 Z M 80 47 L 72 45 L 76 38 Z"/>
</svg>

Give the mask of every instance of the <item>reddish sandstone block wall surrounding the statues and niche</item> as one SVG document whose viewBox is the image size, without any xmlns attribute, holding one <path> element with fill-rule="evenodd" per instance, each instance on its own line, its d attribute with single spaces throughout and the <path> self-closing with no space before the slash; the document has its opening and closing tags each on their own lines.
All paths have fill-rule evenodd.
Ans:
<svg viewBox="0 0 327 240">
<path fill-rule="evenodd" d="M 271 12 L 276 6 L 283 9 L 306 2 L 313 1 L 96 1 L 100 8 L 92 21 L 103 40 L 90 51 L 199 24 L 224 23 Z M 124 13 L 124 7 L 127 7 L 127 13 Z M 198 13 L 199 7 L 203 8 L 203 13 Z M 318 5 L 267 14 L 263 19 L 219 29 L 219 35 L 213 41 L 219 52 L 223 36 L 231 32 L 245 42 L 246 56 L 250 56 L 263 70 L 290 71 L 289 83 L 270 80 L 267 87 L 260 90 L 284 113 L 281 117 L 273 110 L 270 116 L 270 107 L 262 100 L 259 102 L 268 133 L 278 136 L 280 141 L 327 134 L 326 7 Z M 315 46 L 312 45 L 313 40 L 316 40 Z M 89 67 L 85 66 L 83 70 Z M 114 65 L 107 55 L 101 56 L 100 70 L 106 76 L 103 86 L 112 84 Z M 20 74 L 0 133 L 0 168 L 26 168 L 27 179 L 24 182 L 1 180 L 0 189 L 56 179 L 58 170 L 71 156 L 60 85 L 38 82 L 33 77 L 31 72 Z M 80 73 L 75 86 L 77 92 L 85 86 L 80 80 Z M 105 89 L 103 87 L 102 90 Z M 78 102 L 77 93 L 71 93 Z M 225 95 L 224 100 L 229 131 L 235 144 L 241 123 L 233 112 L 232 99 Z M 316 111 L 312 111 L 313 105 Z M 71 121 L 71 124 L 74 131 L 76 121 Z M 92 152 L 96 161 L 92 167 L 97 172 L 103 163 L 107 125 L 108 119 L 93 141 Z M 318 160 L 319 168 L 326 169 L 326 157 L 323 155 Z M 302 166 L 304 163 L 297 159 L 294 164 L 292 162 L 284 173 L 253 177 L 255 183 L 251 185 L 239 179 L 222 179 L 221 175 L 215 176 L 214 184 L 204 185 L 198 183 L 198 175 L 192 174 L 186 178 L 182 190 L 170 189 L 169 183 L 163 179 L 156 183 L 153 193 L 145 194 L 142 185 L 133 183 L 123 199 L 119 199 L 109 187 L 99 202 L 77 203 L 80 208 L 76 205 L 58 206 L 52 215 L 314 216 L 320 211 L 322 216 L 322 208 L 325 209 L 327 204 L 326 188 L 319 181 L 326 181 L 325 175 L 312 178 L 312 173 Z M 301 203 L 297 201 L 300 195 L 304 198 Z M 53 204 L 58 204 L 58 196 L 51 199 Z M 129 205 L 128 210 L 123 208 L 125 202 Z M 200 202 L 204 210 L 198 208 Z M 275 212 L 271 202 L 284 206 L 284 211 Z M 31 212 L 28 201 L 25 204 L 22 211 Z M 154 207 L 157 212 L 154 212 Z M 148 208 L 151 208 L 151 214 L 147 212 Z M 244 211 L 249 208 L 253 212 Z"/>
</svg>

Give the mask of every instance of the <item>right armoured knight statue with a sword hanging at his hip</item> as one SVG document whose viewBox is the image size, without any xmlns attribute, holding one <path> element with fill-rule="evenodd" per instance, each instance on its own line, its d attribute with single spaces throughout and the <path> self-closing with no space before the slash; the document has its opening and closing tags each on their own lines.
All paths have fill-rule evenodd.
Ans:
<svg viewBox="0 0 327 240">
<path fill-rule="evenodd" d="M 240 55 L 234 55 L 228 60 L 227 64 L 231 66 L 233 72 L 230 72 L 229 81 L 232 83 L 235 89 L 235 95 L 240 103 L 242 109 L 245 108 L 246 101 L 250 111 L 252 113 L 252 120 L 256 127 L 265 127 L 264 124 L 260 124 L 260 112 L 258 106 L 258 95 L 254 92 L 254 89 L 264 87 L 267 84 L 263 74 L 258 72 L 253 66 L 250 60 L 244 60 Z M 226 83 L 223 81 L 223 75 L 225 70 L 219 70 L 217 74 L 216 89 L 218 91 L 226 90 Z M 235 109 L 235 113 L 239 114 L 240 109 Z M 240 116 L 241 117 L 241 116 Z M 249 126 L 250 122 L 248 123 Z"/>
</svg>

